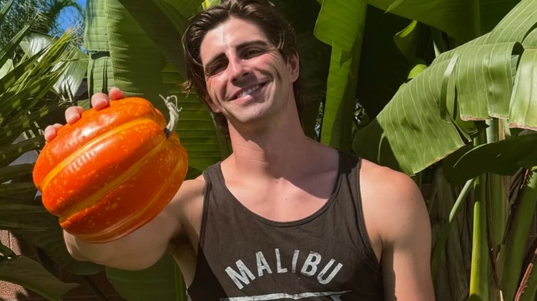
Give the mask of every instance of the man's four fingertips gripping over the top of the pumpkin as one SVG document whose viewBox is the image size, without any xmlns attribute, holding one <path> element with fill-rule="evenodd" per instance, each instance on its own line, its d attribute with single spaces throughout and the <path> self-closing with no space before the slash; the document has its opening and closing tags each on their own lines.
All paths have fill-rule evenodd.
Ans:
<svg viewBox="0 0 537 301">
<path fill-rule="evenodd" d="M 95 93 L 92 96 L 92 107 L 96 110 L 104 109 L 105 107 L 108 107 L 110 104 L 110 100 L 119 100 L 121 98 L 125 98 L 125 93 L 121 91 L 118 88 L 112 88 L 108 92 L 108 95 L 105 93 Z M 65 121 L 68 124 L 74 124 L 81 118 L 81 114 L 84 111 L 82 107 L 70 107 L 65 110 Z M 61 129 L 63 124 L 52 124 L 50 126 L 47 126 L 45 128 L 45 141 L 50 142 L 54 137 L 56 137 L 56 133 L 58 133 L 58 130 Z"/>
</svg>

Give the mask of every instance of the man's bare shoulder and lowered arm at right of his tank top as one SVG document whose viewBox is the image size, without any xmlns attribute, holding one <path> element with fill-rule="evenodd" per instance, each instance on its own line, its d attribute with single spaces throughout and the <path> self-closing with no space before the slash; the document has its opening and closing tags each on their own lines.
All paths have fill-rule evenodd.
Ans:
<svg viewBox="0 0 537 301">
<path fill-rule="evenodd" d="M 421 192 L 400 172 L 371 169 L 364 192 L 366 223 L 378 242 L 385 300 L 434 300 L 430 221 Z"/>
</svg>

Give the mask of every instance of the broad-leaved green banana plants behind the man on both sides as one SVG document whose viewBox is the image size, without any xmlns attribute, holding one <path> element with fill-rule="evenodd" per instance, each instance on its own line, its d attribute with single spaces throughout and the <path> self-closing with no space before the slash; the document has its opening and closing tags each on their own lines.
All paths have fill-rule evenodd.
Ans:
<svg viewBox="0 0 537 301">
<path fill-rule="evenodd" d="M 231 151 L 204 104 L 179 89 L 180 36 L 189 16 L 215 2 L 87 3 L 89 93 L 115 86 L 161 109 L 158 95 L 178 96 L 188 177 Z M 312 100 L 301 113 L 306 133 L 414 175 L 423 191 L 432 185 L 437 298 L 533 300 L 537 256 L 524 258 L 537 199 L 537 2 L 273 2 L 299 35 Z M 183 283 L 169 263 L 107 275 L 128 300 L 178 300 Z"/>
</svg>

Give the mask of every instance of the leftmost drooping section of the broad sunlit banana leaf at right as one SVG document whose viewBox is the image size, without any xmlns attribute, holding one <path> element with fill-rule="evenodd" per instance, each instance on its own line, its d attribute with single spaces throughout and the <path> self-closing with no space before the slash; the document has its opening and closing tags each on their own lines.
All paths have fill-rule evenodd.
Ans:
<svg viewBox="0 0 537 301">
<path fill-rule="evenodd" d="M 449 62 L 429 67 L 404 85 L 366 128 L 352 149 L 410 175 L 464 145 L 456 126 L 441 119 L 443 75 Z"/>
</svg>

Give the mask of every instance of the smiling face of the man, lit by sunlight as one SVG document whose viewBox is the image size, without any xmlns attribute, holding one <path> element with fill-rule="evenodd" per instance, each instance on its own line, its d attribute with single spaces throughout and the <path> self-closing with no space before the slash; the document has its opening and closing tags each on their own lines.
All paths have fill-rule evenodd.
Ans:
<svg viewBox="0 0 537 301">
<path fill-rule="evenodd" d="M 200 46 L 209 107 L 231 124 L 270 120 L 295 105 L 298 58 L 286 62 L 261 28 L 229 19 L 207 32 Z"/>
</svg>

